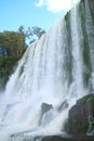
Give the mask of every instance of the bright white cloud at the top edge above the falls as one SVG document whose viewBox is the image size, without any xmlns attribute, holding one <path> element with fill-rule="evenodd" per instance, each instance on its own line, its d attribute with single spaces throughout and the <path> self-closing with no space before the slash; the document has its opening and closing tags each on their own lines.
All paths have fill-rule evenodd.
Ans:
<svg viewBox="0 0 94 141">
<path fill-rule="evenodd" d="M 46 9 L 53 13 L 61 11 L 68 11 L 72 3 L 77 3 L 79 0 L 39 0 L 36 7 L 46 5 Z"/>
</svg>

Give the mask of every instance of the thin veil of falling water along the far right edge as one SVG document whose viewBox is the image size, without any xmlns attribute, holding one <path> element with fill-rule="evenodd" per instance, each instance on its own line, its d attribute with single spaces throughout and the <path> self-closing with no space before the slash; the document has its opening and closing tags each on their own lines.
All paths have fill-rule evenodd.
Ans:
<svg viewBox="0 0 94 141">
<path fill-rule="evenodd" d="M 90 54 L 91 54 L 91 84 L 92 91 L 94 91 L 94 26 L 92 21 L 92 15 L 90 11 L 89 0 L 85 0 L 85 26 L 88 31 L 88 39 L 90 46 Z"/>
</svg>

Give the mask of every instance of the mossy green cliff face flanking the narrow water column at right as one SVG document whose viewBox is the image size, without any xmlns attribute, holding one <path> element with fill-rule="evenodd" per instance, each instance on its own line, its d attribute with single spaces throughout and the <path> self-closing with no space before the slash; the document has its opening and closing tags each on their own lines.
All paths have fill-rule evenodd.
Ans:
<svg viewBox="0 0 94 141">
<path fill-rule="evenodd" d="M 91 82 L 94 75 L 94 0 L 81 0 L 78 7 L 77 23 L 80 23 L 80 28 L 78 26 L 79 41 L 82 49 L 82 60 L 83 60 L 83 81 L 85 87 L 91 87 L 94 89 Z M 72 10 L 71 10 L 72 11 Z M 71 81 L 71 69 L 72 69 L 72 38 L 71 37 L 71 11 L 65 15 L 66 27 L 67 27 L 67 38 L 69 44 L 69 79 Z M 75 12 L 75 11 L 73 11 Z M 75 28 L 75 27 L 72 27 Z M 89 86 L 90 85 L 90 86 Z"/>
</svg>

